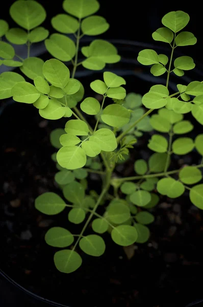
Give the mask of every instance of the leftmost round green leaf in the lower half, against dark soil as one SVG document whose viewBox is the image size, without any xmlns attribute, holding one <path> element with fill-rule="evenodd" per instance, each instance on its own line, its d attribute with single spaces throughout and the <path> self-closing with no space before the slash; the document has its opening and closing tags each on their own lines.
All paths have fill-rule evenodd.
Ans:
<svg viewBox="0 0 203 307">
<path fill-rule="evenodd" d="M 62 212 L 66 204 L 59 195 L 53 192 L 45 192 L 39 195 L 35 200 L 35 208 L 48 215 L 54 215 Z"/>
</svg>

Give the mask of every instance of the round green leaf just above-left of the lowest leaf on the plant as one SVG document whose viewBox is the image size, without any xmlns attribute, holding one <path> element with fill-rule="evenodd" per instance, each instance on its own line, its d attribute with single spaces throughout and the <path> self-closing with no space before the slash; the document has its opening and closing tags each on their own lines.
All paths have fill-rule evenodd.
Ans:
<svg viewBox="0 0 203 307">
<path fill-rule="evenodd" d="M 54 247 L 67 247 L 74 241 L 72 233 L 62 227 L 50 228 L 44 238 L 46 244 Z"/>
</svg>

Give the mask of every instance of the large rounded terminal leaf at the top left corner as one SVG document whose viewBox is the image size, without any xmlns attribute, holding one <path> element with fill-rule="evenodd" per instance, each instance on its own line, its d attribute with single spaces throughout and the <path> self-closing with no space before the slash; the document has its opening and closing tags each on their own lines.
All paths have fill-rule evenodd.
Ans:
<svg viewBox="0 0 203 307">
<path fill-rule="evenodd" d="M 36 1 L 18 0 L 11 5 L 10 15 L 20 27 L 31 30 L 43 23 L 46 18 L 46 11 Z"/>
</svg>

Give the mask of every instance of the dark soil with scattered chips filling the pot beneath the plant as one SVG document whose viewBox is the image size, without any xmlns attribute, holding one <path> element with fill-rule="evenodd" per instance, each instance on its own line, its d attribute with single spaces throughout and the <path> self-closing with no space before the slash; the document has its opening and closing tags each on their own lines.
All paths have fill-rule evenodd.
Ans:
<svg viewBox="0 0 203 307">
<path fill-rule="evenodd" d="M 7 106 L 1 115 L 1 269 L 29 291 L 71 307 L 181 307 L 203 298 L 203 215 L 187 192 L 176 200 L 163 198 L 151 209 L 156 220 L 149 226 L 150 239 L 135 246 L 131 259 L 105 234 L 102 257 L 82 254 L 79 270 L 57 271 L 56 250 L 45 244 L 44 234 L 53 226 L 69 229 L 68 211 L 49 217 L 34 208 L 34 200 L 45 191 L 61 193 L 54 182 L 56 167 L 50 155 L 55 149 L 49 134 L 65 122 L 42 119 L 36 108 L 20 103 Z M 200 127 L 196 125 L 194 135 Z M 135 158 L 148 157 L 145 138 L 134 152 Z M 192 152 L 183 159 L 174 157 L 172 163 L 180 167 L 198 159 Z M 129 163 L 125 167 L 132 168 Z M 98 189 L 96 179 L 90 180 Z"/>
</svg>

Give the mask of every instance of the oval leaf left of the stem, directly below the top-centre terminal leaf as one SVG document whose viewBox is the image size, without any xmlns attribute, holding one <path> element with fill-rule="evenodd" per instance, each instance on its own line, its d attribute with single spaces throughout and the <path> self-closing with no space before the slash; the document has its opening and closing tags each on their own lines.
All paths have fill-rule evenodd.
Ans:
<svg viewBox="0 0 203 307">
<path fill-rule="evenodd" d="M 58 32 L 70 34 L 75 33 L 79 28 L 79 22 L 67 14 L 58 14 L 51 20 L 52 27 Z"/>
</svg>

